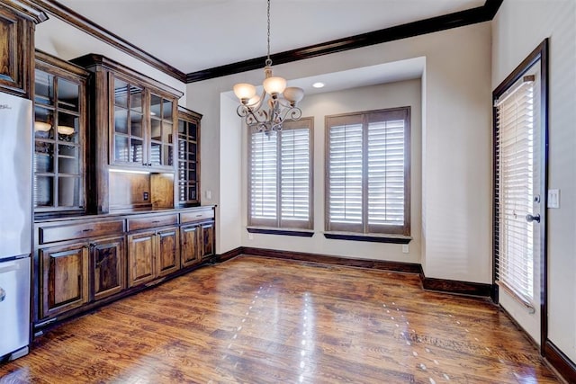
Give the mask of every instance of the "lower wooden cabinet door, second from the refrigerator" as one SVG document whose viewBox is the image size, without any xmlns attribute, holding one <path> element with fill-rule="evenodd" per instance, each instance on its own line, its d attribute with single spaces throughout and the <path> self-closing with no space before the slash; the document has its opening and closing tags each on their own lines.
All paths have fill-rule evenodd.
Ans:
<svg viewBox="0 0 576 384">
<path fill-rule="evenodd" d="M 94 300 L 103 299 L 126 288 L 124 237 L 99 240 L 91 246 Z"/>
</svg>

